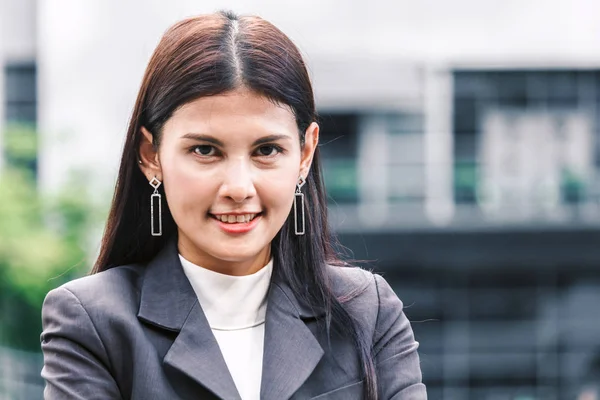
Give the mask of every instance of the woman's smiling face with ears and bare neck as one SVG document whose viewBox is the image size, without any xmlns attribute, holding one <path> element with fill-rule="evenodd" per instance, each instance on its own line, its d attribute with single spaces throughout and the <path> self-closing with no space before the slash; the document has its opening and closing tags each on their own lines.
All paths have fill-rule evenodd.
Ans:
<svg viewBox="0 0 600 400">
<path fill-rule="evenodd" d="M 239 89 L 175 111 L 158 152 L 150 133 L 142 132 L 141 168 L 149 180 L 163 182 L 180 253 L 232 275 L 263 267 L 290 213 L 298 178 L 308 174 L 318 126 L 307 129 L 301 148 L 288 107 Z"/>
</svg>

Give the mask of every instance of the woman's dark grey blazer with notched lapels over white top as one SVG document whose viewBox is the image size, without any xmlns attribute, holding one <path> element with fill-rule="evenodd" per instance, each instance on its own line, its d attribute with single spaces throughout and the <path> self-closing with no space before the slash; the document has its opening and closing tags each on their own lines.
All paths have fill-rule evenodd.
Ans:
<svg viewBox="0 0 600 400">
<path fill-rule="evenodd" d="M 330 267 L 346 305 L 372 337 L 380 399 L 426 399 L 409 321 L 380 276 Z M 356 351 L 328 343 L 323 312 L 275 278 L 268 293 L 261 399 L 360 399 Z M 174 243 L 48 293 L 42 310 L 45 399 L 239 399 Z"/>
</svg>

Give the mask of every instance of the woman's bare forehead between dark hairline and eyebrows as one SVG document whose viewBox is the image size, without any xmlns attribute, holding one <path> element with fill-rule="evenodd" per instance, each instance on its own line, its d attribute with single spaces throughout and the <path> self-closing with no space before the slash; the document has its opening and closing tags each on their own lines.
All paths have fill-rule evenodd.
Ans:
<svg viewBox="0 0 600 400">
<path fill-rule="evenodd" d="M 238 89 L 193 100 L 167 121 L 165 134 L 182 136 L 190 132 L 212 135 L 239 133 L 297 134 L 291 109 L 254 92 Z"/>
</svg>

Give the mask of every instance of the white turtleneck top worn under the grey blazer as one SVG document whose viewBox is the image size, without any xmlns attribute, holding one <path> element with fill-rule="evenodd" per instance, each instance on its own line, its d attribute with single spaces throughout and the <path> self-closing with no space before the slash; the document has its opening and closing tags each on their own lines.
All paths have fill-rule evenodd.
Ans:
<svg viewBox="0 0 600 400">
<path fill-rule="evenodd" d="M 260 398 L 271 260 L 252 275 L 220 274 L 179 255 L 243 400 Z"/>
</svg>

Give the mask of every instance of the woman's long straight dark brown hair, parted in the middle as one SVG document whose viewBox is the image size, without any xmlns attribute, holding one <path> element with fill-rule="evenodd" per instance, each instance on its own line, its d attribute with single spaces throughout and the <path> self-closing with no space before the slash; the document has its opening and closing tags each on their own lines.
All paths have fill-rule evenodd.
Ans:
<svg viewBox="0 0 600 400">
<path fill-rule="evenodd" d="M 166 204 L 163 236 L 150 234 L 151 188 L 137 165 L 142 126 L 152 133 L 158 148 L 162 127 L 178 107 L 241 86 L 289 106 L 304 145 L 305 131 L 317 119 L 314 95 L 302 56 L 283 32 L 259 17 L 220 12 L 183 20 L 165 33 L 150 59 L 129 122 L 115 194 L 92 273 L 147 262 L 176 233 Z M 306 234 L 294 234 L 290 212 L 271 243 L 275 273 L 301 300 L 325 308 L 328 330 L 353 338 L 365 378 L 365 398 L 376 399 L 371 343 L 344 308 L 347 299 L 333 294 L 327 274 L 327 264 L 340 261 L 328 229 L 318 148 L 305 187 Z"/>
</svg>

